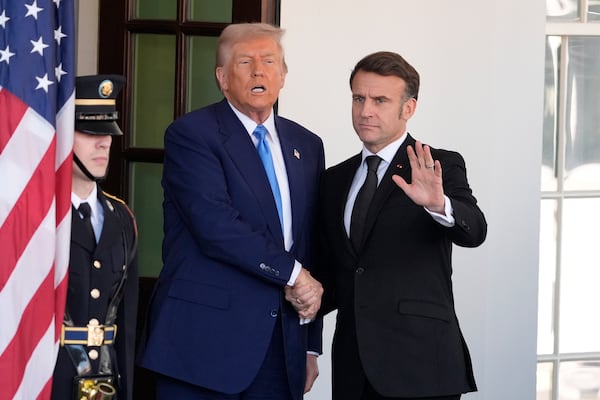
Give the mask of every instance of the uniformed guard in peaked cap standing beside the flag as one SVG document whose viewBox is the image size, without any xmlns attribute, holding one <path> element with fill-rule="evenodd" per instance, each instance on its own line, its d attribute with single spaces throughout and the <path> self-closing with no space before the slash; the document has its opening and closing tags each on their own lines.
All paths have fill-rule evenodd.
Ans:
<svg viewBox="0 0 600 400">
<path fill-rule="evenodd" d="M 125 79 L 82 76 L 75 88 L 69 288 L 52 399 L 131 400 L 138 302 L 137 228 L 102 192 Z"/>
</svg>

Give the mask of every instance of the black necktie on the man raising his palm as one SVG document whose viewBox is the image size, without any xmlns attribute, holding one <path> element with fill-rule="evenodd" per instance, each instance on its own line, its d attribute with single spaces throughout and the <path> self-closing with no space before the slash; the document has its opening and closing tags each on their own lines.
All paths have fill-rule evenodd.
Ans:
<svg viewBox="0 0 600 400">
<path fill-rule="evenodd" d="M 365 161 L 367 162 L 367 178 L 356 195 L 352 218 L 350 219 L 350 241 L 352 241 L 355 250 L 358 250 L 362 243 L 367 212 L 377 190 L 377 168 L 381 158 L 379 156 L 368 156 Z"/>
</svg>

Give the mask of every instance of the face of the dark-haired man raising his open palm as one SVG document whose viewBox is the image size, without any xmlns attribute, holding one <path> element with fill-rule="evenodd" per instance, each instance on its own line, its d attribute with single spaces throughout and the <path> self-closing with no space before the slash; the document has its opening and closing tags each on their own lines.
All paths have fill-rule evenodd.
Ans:
<svg viewBox="0 0 600 400">
<path fill-rule="evenodd" d="M 365 147 L 373 153 L 400 138 L 416 108 L 414 98 L 404 101 L 406 82 L 397 76 L 359 71 L 352 81 L 352 124 Z"/>
</svg>

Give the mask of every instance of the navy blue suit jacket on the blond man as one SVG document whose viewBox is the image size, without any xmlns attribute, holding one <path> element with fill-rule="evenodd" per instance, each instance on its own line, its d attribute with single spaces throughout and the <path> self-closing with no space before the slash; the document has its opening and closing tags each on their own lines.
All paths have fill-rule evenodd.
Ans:
<svg viewBox="0 0 600 400">
<path fill-rule="evenodd" d="M 264 167 L 228 103 L 188 113 L 167 129 L 164 267 L 151 304 L 144 367 L 239 393 L 256 376 L 279 316 L 290 385 L 301 397 L 307 346 L 321 351 L 320 325 L 299 325 L 283 288 L 294 259 L 305 267 L 313 263 L 324 154 L 321 139 L 305 128 L 277 116 L 275 124 L 292 203 L 290 252 Z"/>
</svg>

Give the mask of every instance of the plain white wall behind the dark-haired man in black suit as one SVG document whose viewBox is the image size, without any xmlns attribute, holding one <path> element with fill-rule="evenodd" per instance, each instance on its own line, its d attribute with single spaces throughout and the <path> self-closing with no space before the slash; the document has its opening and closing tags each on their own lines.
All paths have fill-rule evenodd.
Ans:
<svg viewBox="0 0 600 400">
<path fill-rule="evenodd" d="M 327 164 L 360 150 L 348 77 L 364 55 L 391 50 L 421 74 L 409 131 L 465 157 L 489 233 L 455 250 L 457 312 L 479 392 L 535 399 L 543 0 L 282 0 L 290 72 L 279 112 L 317 132 Z M 399 255 L 401 257 L 401 255 Z M 330 340 L 306 397 L 330 398 Z"/>
</svg>

